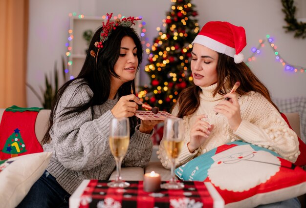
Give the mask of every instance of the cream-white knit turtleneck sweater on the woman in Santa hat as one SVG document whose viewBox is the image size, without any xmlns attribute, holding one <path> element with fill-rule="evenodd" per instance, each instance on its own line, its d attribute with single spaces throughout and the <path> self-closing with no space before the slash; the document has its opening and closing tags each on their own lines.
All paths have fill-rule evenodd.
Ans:
<svg viewBox="0 0 306 208">
<path fill-rule="evenodd" d="M 212 92 L 216 87 L 217 83 L 201 87 L 199 108 L 194 114 L 183 118 L 184 145 L 176 160 L 176 166 L 181 166 L 200 154 L 235 140 L 268 148 L 291 162 L 296 161 L 300 154 L 296 133 L 289 128 L 278 110 L 262 94 L 251 91 L 246 95 L 239 96 L 242 122 L 234 132 L 228 124 L 227 118 L 220 113 L 216 115 L 213 110 L 213 107 L 223 99 L 223 96 L 219 94 L 213 97 Z M 176 105 L 172 114 L 176 116 L 177 113 L 178 106 Z M 202 114 L 207 115 L 205 121 L 211 125 L 214 124 L 215 127 L 209 138 L 196 151 L 190 153 L 187 147 L 190 140 L 190 130 L 195 123 L 195 117 Z M 163 141 L 161 141 L 157 153 L 162 165 L 170 169 L 171 161 L 166 154 Z"/>
</svg>

